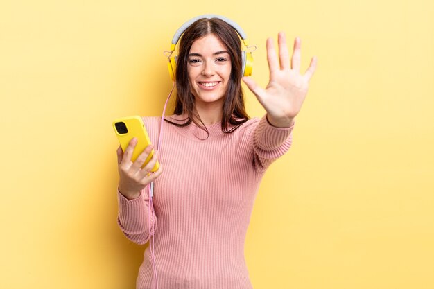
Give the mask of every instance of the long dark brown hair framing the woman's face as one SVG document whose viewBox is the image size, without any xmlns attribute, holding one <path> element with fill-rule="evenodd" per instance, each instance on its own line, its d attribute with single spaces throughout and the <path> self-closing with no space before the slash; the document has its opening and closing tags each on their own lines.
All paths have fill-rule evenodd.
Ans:
<svg viewBox="0 0 434 289">
<path fill-rule="evenodd" d="M 174 114 L 187 114 L 186 123 L 172 123 L 173 125 L 186 126 L 192 121 L 199 128 L 207 131 L 205 124 L 200 119 L 197 110 L 194 109 L 195 98 L 191 93 L 189 77 L 187 73 L 188 55 L 198 38 L 208 34 L 214 34 L 222 42 L 229 52 L 231 59 L 231 74 L 227 87 L 225 102 L 223 103 L 223 117 L 221 121 L 222 131 L 225 133 L 234 132 L 240 125 L 249 119 L 245 112 L 243 90 L 241 88 L 241 77 L 243 71 L 243 60 L 241 56 L 241 41 L 236 30 L 225 21 L 218 18 L 199 19 L 187 28 L 180 41 L 180 53 L 177 58 L 176 67 L 176 99 Z M 202 125 L 200 125 L 198 123 Z M 229 125 L 234 127 L 229 130 Z"/>
</svg>

